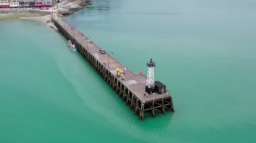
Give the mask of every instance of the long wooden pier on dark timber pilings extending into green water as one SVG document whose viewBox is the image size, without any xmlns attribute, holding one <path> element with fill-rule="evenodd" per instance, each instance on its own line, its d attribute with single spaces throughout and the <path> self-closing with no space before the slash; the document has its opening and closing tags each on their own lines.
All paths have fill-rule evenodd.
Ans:
<svg viewBox="0 0 256 143">
<path fill-rule="evenodd" d="M 139 115 L 141 120 L 148 115 L 155 116 L 157 113 L 174 111 L 170 92 L 148 95 L 145 92 L 146 77 L 143 75 L 134 75 L 128 69 L 124 80 L 117 77 L 116 68 L 123 69 L 125 66 L 108 53 L 100 54 L 100 48 L 96 44 L 89 41 L 82 32 L 73 28 L 64 19 L 53 15 L 52 21 L 55 23 L 59 32 L 67 40 L 71 40 L 75 44 L 77 52 L 82 54 L 104 81 Z"/>
</svg>

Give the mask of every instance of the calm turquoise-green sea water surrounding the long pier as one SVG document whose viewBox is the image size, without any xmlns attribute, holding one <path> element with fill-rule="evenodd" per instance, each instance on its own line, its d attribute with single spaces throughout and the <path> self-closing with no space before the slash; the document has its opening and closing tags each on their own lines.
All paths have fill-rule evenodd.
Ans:
<svg viewBox="0 0 256 143">
<path fill-rule="evenodd" d="M 0 142 L 256 142 L 256 1 L 94 0 L 65 17 L 172 92 L 144 121 L 67 40 L 0 20 Z"/>
</svg>

